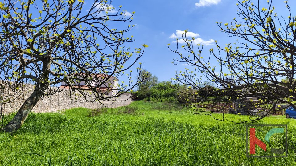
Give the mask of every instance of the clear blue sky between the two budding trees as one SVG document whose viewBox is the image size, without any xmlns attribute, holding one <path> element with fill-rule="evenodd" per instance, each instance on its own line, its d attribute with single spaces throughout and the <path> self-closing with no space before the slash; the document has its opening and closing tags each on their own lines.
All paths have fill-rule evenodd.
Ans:
<svg viewBox="0 0 296 166">
<path fill-rule="evenodd" d="M 261 2 L 265 4 L 262 7 L 267 7 L 265 0 Z M 189 68 L 185 64 L 171 63 L 178 56 L 167 48 L 167 44 L 171 43 L 171 48 L 175 47 L 173 41 L 178 36 L 178 30 L 188 29 L 192 35 L 200 38 L 199 40 L 205 41 L 202 44 L 206 44 L 203 51 L 206 57 L 208 50 L 216 47 L 211 45 L 214 44 L 211 39 L 217 40 L 221 46 L 236 41 L 237 38 L 230 38 L 227 34 L 220 32 L 216 24 L 216 21 L 226 23 L 237 17 L 236 3 L 235 0 L 113 0 L 111 4 L 116 9 L 122 5 L 122 9 L 130 13 L 136 12 L 131 22 L 135 27 L 130 31 L 135 39 L 132 48 L 140 47 L 141 44 L 149 45 L 139 61 L 143 63 L 142 68 L 156 75 L 159 81 L 170 81 L 171 78 L 175 78 L 176 71 Z M 289 5 L 292 7 L 296 3 L 289 1 Z M 283 9 L 286 10 L 282 0 L 273 1 L 273 6 L 278 13 Z M 133 70 L 136 70 L 136 67 L 138 66 L 134 66 Z M 126 81 L 125 77 L 119 79 Z"/>
</svg>

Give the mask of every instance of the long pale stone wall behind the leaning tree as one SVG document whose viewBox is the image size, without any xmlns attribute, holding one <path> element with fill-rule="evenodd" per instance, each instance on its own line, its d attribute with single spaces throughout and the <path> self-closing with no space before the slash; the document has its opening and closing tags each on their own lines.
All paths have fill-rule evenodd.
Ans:
<svg viewBox="0 0 296 166">
<path fill-rule="evenodd" d="M 52 89 L 54 87 L 51 87 Z M 19 90 L 19 94 L 15 93 L 14 97 L 11 99 L 14 99 L 9 104 L 4 105 L 4 113 L 12 113 L 15 111 L 18 111 L 18 109 L 23 105 L 23 102 L 31 95 L 31 93 L 34 90 L 34 85 L 27 84 L 24 85 L 22 89 Z M 22 92 L 22 93 L 20 93 Z M 70 93 L 72 97 L 70 97 Z M 76 95 L 72 91 L 69 91 L 69 89 L 64 89 L 61 92 L 55 93 L 52 96 L 45 96 L 42 99 L 38 101 L 38 103 L 33 108 L 33 112 L 35 113 L 45 113 L 45 112 L 58 112 L 65 109 L 70 108 L 76 108 L 76 107 L 85 107 L 90 109 L 108 107 L 108 108 L 116 108 L 120 106 L 129 105 L 131 103 L 130 93 L 129 94 L 123 94 L 117 98 L 113 98 L 116 101 L 95 101 L 95 102 L 86 102 L 85 98 L 80 94 L 76 92 Z M 91 93 L 91 91 L 87 91 L 86 93 Z M 75 101 L 72 101 L 72 99 L 76 98 Z M 111 100 L 113 100 L 111 99 Z M 110 100 L 110 99 L 109 99 Z M 103 103 L 104 105 L 102 105 Z"/>
</svg>

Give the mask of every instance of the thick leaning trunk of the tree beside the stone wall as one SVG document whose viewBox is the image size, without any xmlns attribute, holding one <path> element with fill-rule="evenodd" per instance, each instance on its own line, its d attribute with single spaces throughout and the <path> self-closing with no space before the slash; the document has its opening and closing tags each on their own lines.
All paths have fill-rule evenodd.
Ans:
<svg viewBox="0 0 296 166">
<path fill-rule="evenodd" d="M 24 102 L 14 118 L 2 130 L 5 132 L 14 132 L 15 130 L 19 129 L 42 95 L 42 90 L 36 86 L 33 93 Z"/>
</svg>

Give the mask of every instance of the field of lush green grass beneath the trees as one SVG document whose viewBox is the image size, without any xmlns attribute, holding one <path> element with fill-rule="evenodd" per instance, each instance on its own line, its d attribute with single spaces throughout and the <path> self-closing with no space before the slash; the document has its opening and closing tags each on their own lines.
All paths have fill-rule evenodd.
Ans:
<svg viewBox="0 0 296 166">
<path fill-rule="evenodd" d="M 270 116 L 256 123 L 288 124 L 288 157 L 247 158 L 246 124 L 172 104 L 134 101 L 129 108 L 137 111 L 31 113 L 12 136 L 0 134 L 0 165 L 296 165 L 294 119 Z"/>
</svg>

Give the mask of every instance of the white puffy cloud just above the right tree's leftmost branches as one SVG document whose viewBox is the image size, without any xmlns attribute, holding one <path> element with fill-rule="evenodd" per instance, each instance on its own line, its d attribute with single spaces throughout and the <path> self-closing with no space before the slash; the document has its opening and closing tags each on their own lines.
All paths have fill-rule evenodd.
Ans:
<svg viewBox="0 0 296 166">
<path fill-rule="evenodd" d="M 179 44 L 185 44 L 186 42 L 183 40 L 182 38 L 182 34 L 183 37 L 185 38 L 185 31 L 182 30 L 176 30 L 176 33 L 172 34 L 169 38 L 175 39 L 178 38 L 178 43 Z M 202 44 L 202 45 L 212 45 L 215 41 L 213 39 L 207 40 L 205 41 L 202 38 L 198 38 L 200 35 L 197 33 L 193 33 L 193 32 L 187 32 L 188 35 L 188 39 L 190 40 L 192 37 L 194 37 L 194 44 L 198 45 L 198 44 Z M 173 41 L 173 43 L 176 43 L 177 41 Z"/>
</svg>

